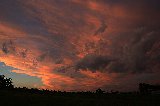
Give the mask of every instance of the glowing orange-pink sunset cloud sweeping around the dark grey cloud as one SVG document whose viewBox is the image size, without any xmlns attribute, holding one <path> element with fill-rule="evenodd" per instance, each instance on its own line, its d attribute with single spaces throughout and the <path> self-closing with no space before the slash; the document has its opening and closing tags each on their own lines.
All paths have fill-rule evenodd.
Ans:
<svg viewBox="0 0 160 106">
<path fill-rule="evenodd" d="M 77 71 L 74 66 L 88 54 L 108 56 L 115 60 L 120 58 L 118 62 L 130 63 L 137 56 L 131 51 L 141 51 L 143 46 L 138 42 L 129 47 L 134 41 L 132 37 L 138 39 L 135 33 L 143 35 L 141 32 L 145 28 L 139 27 L 145 27 L 145 23 L 148 26 L 155 23 L 152 20 L 150 24 L 151 16 L 140 8 L 140 4 L 136 5 L 137 9 L 103 0 L 19 0 L 17 3 L 22 5 L 28 19 L 39 23 L 38 34 L 33 33 L 36 30 L 26 32 L 19 24 L 1 22 L 0 44 L 12 40 L 16 49 L 9 53 L 0 50 L 0 61 L 17 68 L 12 72 L 40 78 L 44 84 L 42 88 L 47 89 L 90 90 L 112 85 L 114 81 L 116 83 L 118 74 L 108 73 L 109 69 L 93 73 L 92 70 Z M 152 13 L 153 17 L 155 13 Z M 146 16 L 149 18 L 146 19 Z M 24 26 L 31 27 L 28 24 L 33 25 L 27 23 Z M 36 27 L 33 26 L 33 29 Z M 144 42 L 145 39 L 139 41 Z M 157 45 L 155 48 L 158 48 Z M 152 51 L 157 54 L 154 49 Z M 109 67 L 114 64 L 112 62 Z M 155 66 L 156 69 L 157 67 L 159 65 Z"/>
</svg>

